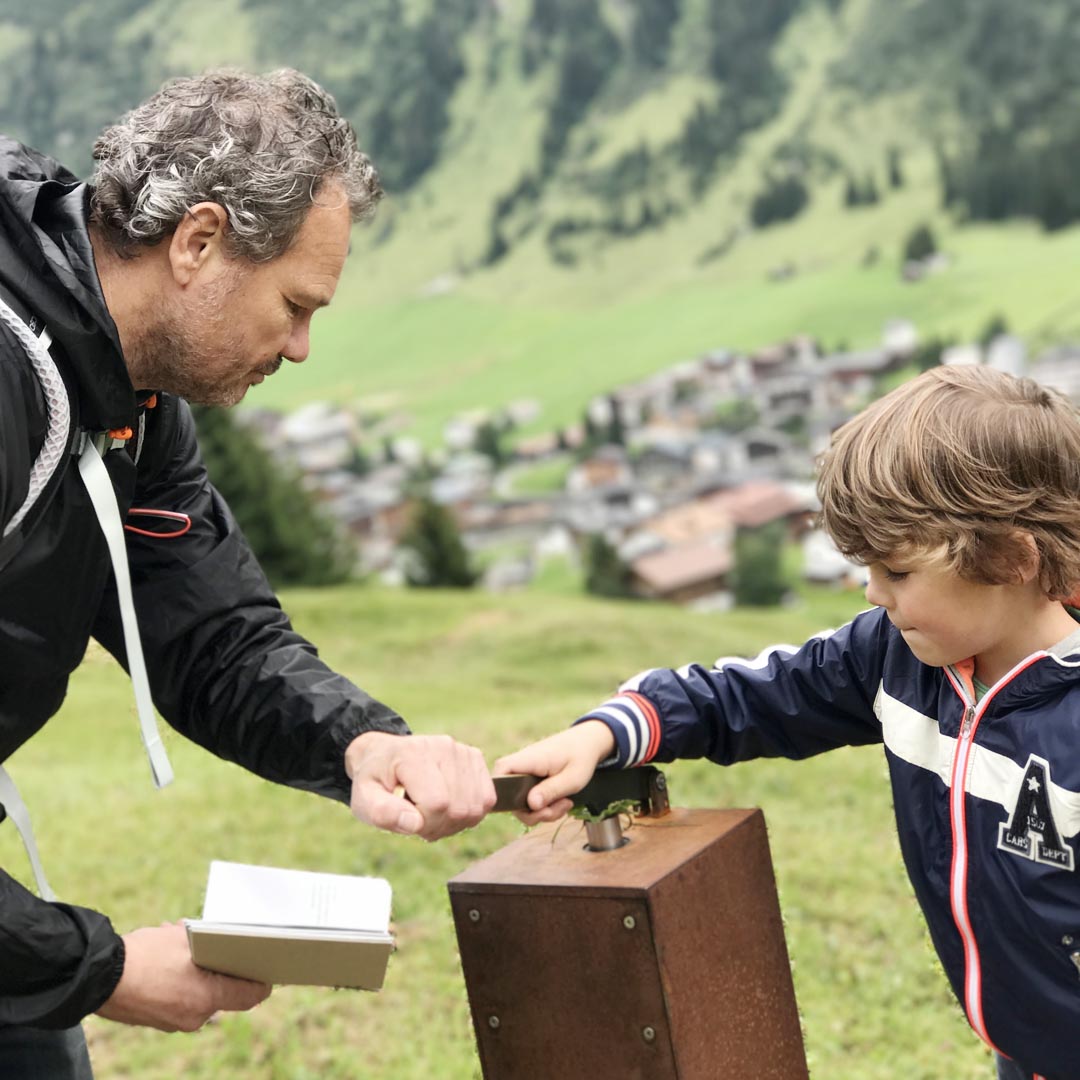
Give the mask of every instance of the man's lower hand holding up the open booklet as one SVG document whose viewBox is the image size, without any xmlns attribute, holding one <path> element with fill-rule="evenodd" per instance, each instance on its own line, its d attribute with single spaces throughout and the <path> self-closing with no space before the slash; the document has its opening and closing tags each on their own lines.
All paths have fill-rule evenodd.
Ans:
<svg viewBox="0 0 1080 1080">
<path fill-rule="evenodd" d="M 198 1031 L 216 1012 L 245 1012 L 270 996 L 266 983 L 218 975 L 191 962 L 180 922 L 124 934 L 124 972 L 98 1016 L 159 1031 Z"/>
</svg>

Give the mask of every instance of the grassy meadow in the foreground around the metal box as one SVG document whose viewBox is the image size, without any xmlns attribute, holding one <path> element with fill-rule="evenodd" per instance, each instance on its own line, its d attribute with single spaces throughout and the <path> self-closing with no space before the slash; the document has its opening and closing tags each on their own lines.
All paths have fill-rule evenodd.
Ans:
<svg viewBox="0 0 1080 1080">
<path fill-rule="evenodd" d="M 808 591 L 791 609 L 701 616 L 568 592 L 359 585 L 283 600 L 332 665 L 394 704 L 416 731 L 451 732 L 490 761 L 566 725 L 643 667 L 801 640 L 860 607 L 854 594 Z M 154 792 L 130 684 L 92 651 L 62 713 L 9 762 L 62 899 L 107 912 L 123 932 L 198 915 L 212 859 L 374 874 L 394 889 L 399 949 L 380 994 L 282 987 L 254 1012 L 221 1016 L 194 1036 L 92 1017 L 100 1080 L 478 1077 L 446 882 L 522 826 L 500 815 L 436 845 L 380 835 L 341 806 L 260 781 L 174 732 L 166 741 L 177 780 Z M 676 805 L 766 813 L 815 1078 L 989 1075 L 921 927 L 878 748 L 665 770 Z M 0 828 L 0 864 L 26 865 L 10 827 Z M 572 980 L 573 958 L 563 962 Z M 530 1075 L 546 1080 L 543 1062 Z"/>
</svg>

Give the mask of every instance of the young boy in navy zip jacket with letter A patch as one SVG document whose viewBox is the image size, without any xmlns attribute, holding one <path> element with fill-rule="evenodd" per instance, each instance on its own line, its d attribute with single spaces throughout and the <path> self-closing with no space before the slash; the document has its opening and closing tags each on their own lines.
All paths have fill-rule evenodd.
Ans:
<svg viewBox="0 0 1080 1080">
<path fill-rule="evenodd" d="M 797 651 L 637 675 L 496 772 L 730 765 L 880 742 L 937 955 L 1008 1080 L 1080 1077 L 1080 416 L 1029 379 L 927 372 L 835 435 L 821 522 L 873 610 Z"/>
</svg>

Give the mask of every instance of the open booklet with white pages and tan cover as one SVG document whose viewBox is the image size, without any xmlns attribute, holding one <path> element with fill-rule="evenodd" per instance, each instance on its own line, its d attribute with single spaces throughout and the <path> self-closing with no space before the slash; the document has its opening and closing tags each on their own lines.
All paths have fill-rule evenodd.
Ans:
<svg viewBox="0 0 1080 1080">
<path fill-rule="evenodd" d="M 211 863 L 201 919 L 185 919 L 201 968 L 262 983 L 378 990 L 393 951 L 382 878 Z"/>
</svg>

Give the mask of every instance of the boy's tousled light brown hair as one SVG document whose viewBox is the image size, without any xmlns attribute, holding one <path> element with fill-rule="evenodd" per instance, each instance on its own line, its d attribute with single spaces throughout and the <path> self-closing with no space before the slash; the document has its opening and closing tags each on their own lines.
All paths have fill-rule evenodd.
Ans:
<svg viewBox="0 0 1080 1080">
<path fill-rule="evenodd" d="M 1054 599 L 1080 592 L 1080 413 L 1031 379 L 936 367 L 833 436 L 821 525 L 859 563 L 921 555 L 983 584 L 1020 580 L 1035 540 Z"/>
</svg>

